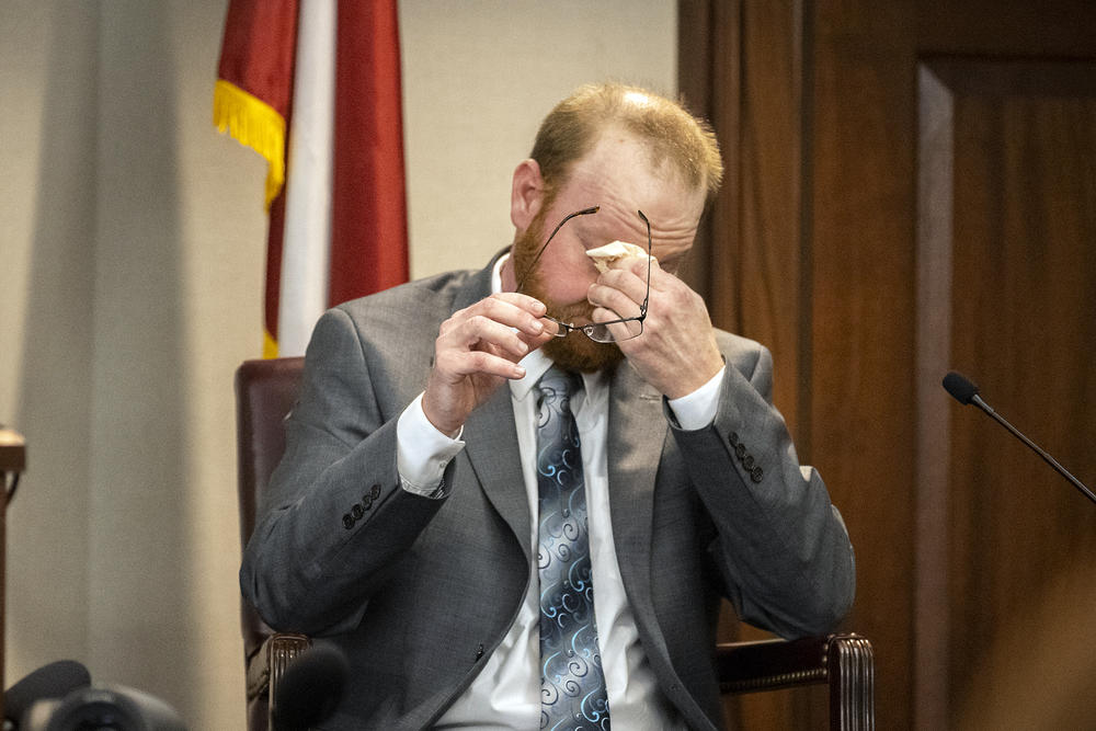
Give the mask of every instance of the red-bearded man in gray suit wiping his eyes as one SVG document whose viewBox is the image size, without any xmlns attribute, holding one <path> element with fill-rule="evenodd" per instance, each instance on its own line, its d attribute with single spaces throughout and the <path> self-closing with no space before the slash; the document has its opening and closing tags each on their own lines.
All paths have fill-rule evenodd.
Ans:
<svg viewBox="0 0 1096 731">
<path fill-rule="evenodd" d="M 514 172 L 510 250 L 317 324 L 241 585 L 350 658 L 326 728 L 721 728 L 721 597 L 786 637 L 848 610 L 848 535 L 770 403 L 768 352 L 674 276 L 721 175 L 677 103 L 582 88 Z M 654 259 L 598 272 L 585 252 L 612 241 Z M 578 433 L 560 472 L 552 401 Z M 548 540 L 575 542 L 546 548 L 564 473 Z M 553 598 L 543 571 L 572 550 Z M 549 651 L 560 626 L 585 638 Z"/>
</svg>

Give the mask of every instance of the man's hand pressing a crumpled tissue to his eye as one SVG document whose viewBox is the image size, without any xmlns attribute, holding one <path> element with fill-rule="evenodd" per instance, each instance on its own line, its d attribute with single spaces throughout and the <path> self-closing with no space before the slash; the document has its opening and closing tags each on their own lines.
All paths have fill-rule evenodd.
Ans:
<svg viewBox="0 0 1096 731">
<path fill-rule="evenodd" d="M 636 317 L 647 293 L 647 261 L 626 259 L 590 285 L 594 321 Z M 610 325 L 623 333 L 635 323 Z M 639 375 L 667 398 L 687 396 L 708 382 L 723 358 L 716 345 L 704 299 L 673 274 L 651 262 L 651 296 L 643 333 L 617 343 Z"/>
</svg>

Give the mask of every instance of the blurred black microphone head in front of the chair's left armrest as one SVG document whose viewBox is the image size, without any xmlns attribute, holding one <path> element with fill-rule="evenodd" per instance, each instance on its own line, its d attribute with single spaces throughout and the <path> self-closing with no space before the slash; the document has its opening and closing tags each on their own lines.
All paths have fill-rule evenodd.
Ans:
<svg viewBox="0 0 1096 731">
<path fill-rule="evenodd" d="M 317 644 L 285 669 L 274 688 L 274 731 L 304 731 L 334 712 L 350 676 L 340 650 Z"/>
</svg>

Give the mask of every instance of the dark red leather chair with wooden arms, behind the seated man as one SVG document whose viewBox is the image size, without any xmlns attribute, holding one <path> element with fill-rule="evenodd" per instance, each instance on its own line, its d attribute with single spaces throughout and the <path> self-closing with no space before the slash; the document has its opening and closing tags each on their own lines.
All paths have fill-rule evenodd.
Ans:
<svg viewBox="0 0 1096 731">
<path fill-rule="evenodd" d="M 285 450 L 284 421 L 297 399 L 304 358 L 246 361 L 236 372 L 240 540 L 255 527 L 258 505 Z M 275 632 L 240 602 L 247 666 L 248 729 L 266 731 L 286 665 L 309 647 L 302 635 Z M 871 644 L 858 635 L 762 640 L 716 647 L 720 689 L 729 694 L 826 684 L 830 728 L 875 728 Z"/>
</svg>

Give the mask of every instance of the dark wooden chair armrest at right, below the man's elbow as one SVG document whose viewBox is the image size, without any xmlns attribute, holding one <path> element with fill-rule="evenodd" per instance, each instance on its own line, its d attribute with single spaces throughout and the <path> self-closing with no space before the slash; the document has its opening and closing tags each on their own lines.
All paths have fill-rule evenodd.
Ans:
<svg viewBox="0 0 1096 731">
<path fill-rule="evenodd" d="M 875 660 L 858 635 L 718 644 L 716 669 L 723 693 L 826 683 L 833 728 L 875 728 Z"/>
</svg>

